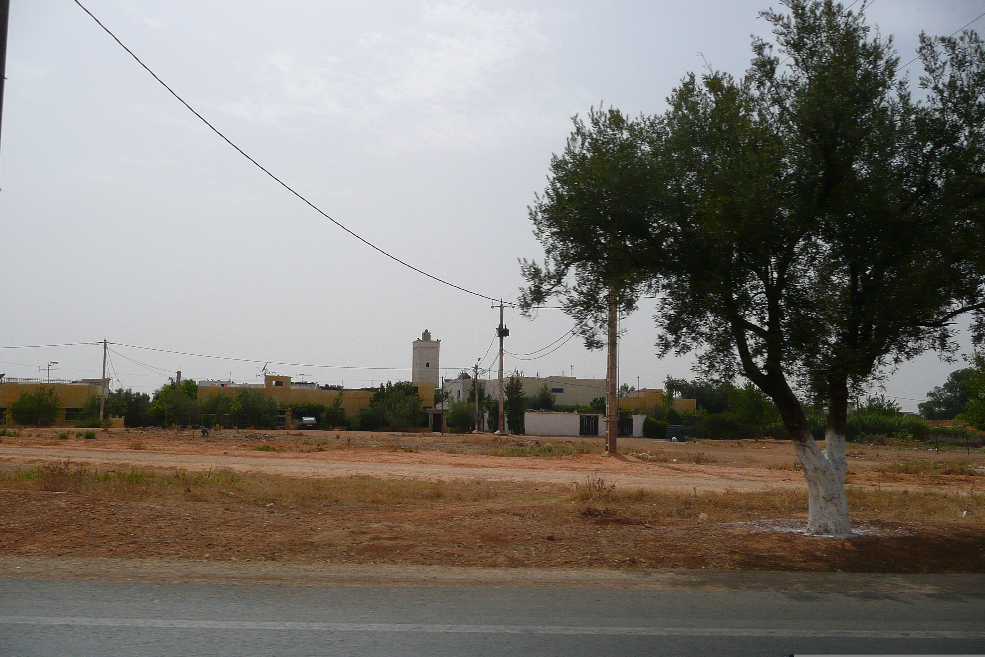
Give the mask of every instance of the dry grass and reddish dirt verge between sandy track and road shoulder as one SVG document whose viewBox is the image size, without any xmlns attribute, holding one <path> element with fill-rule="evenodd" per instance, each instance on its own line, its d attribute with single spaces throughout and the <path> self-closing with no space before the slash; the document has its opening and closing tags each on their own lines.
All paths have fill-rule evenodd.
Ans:
<svg viewBox="0 0 985 657">
<path fill-rule="evenodd" d="M 985 570 L 985 495 L 857 487 L 848 495 L 853 522 L 880 527 L 880 536 L 760 531 L 758 521 L 805 517 L 799 490 L 654 492 L 600 477 L 567 487 L 303 480 L 59 463 L 0 470 L 0 545 L 10 555 L 73 558 Z"/>
</svg>

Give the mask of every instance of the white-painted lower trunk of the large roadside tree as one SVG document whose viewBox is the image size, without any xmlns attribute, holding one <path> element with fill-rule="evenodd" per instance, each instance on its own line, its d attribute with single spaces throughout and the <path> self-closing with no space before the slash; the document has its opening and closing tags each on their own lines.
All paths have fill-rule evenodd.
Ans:
<svg viewBox="0 0 985 657">
<path fill-rule="evenodd" d="M 807 480 L 808 534 L 832 536 L 854 535 L 848 519 L 848 497 L 845 494 L 845 436 L 830 427 L 824 436 L 826 448 L 821 449 L 810 431 L 794 440 L 797 458 L 804 467 Z"/>
</svg>

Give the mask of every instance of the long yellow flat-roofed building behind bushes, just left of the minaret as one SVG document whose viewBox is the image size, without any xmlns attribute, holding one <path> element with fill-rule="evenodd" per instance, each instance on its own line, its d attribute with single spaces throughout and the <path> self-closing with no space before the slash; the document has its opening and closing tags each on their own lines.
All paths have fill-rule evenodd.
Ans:
<svg viewBox="0 0 985 657">
<path fill-rule="evenodd" d="M 418 396 L 421 397 L 422 407 L 434 406 L 434 386 L 430 383 L 416 382 Z M 290 376 L 268 374 L 264 377 L 263 385 L 237 384 L 231 381 L 205 380 L 198 382 L 198 399 L 205 401 L 213 395 L 235 397 L 241 388 L 259 388 L 268 397 L 273 397 L 281 407 L 292 404 L 321 404 L 330 407 L 342 395 L 342 408 L 346 416 L 355 418 L 360 411 L 369 408 L 372 399 L 379 388 L 343 388 L 338 385 L 318 385 L 316 383 L 293 382 Z"/>
</svg>

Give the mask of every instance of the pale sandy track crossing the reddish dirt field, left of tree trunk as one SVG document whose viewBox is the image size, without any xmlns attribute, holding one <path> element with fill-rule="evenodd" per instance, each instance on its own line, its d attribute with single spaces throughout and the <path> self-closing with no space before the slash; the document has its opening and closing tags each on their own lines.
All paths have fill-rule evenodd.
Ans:
<svg viewBox="0 0 985 657">
<path fill-rule="evenodd" d="M 348 459 L 348 456 L 354 457 Z M 368 460 L 369 457 L 371 460 Z M 12 462 L 45 462 L 70 459 L 97 467 L 210 468 L 241 473 L 285 477 L 329 478 L 369 476 L 386 479 L 491 480 L 570 484 L 591 474 L 604 475 L 612 484 L 626 488 L 698 491 L 761 491 L 804 488 L 800 477 L 782 481 L 787 475 L 766 469 L 733 469 L 689 464 L 652 464 L 620 455 L 607 458 L 594 454 L 580 457 L 497 458 L 423 454 L 317 452 L 305 456 L 260 454 L 201 454 L 144 450 L 112 450 L 63 447 L 15 447 L 0 445 L 0 458 Z M 425 461 L 430 462 L 425 462 Z"/>
</svg>

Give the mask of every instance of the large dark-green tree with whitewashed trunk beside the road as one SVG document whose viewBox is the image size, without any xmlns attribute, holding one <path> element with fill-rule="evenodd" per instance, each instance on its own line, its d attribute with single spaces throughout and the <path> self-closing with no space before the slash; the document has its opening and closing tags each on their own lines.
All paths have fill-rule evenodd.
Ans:
<svg viewBox="0 0 985 657">
<path fill-rule="evenodd" d="M 557 296 L 597 347 L 614 272 L 622 307 L 658 297 L 658 355 L 696 352 L 703 375 L 765 393 L 804 466 L 810 531 L 845 534 L 848 400 L 952 354 L 962 314 L 985 332 L 985 54 L 970 31 L 923 36 L 918 102 L 862 13 L 784 4 L 760 14 L 775 42 L 754 40 L 745 77 L 690 74 L 660 115 L 575 121 L 531 211 L 546 260 L 523 263 L 523 298 Z M 807 403 L 826 407 L 824 449 Z"/>
</svg>

